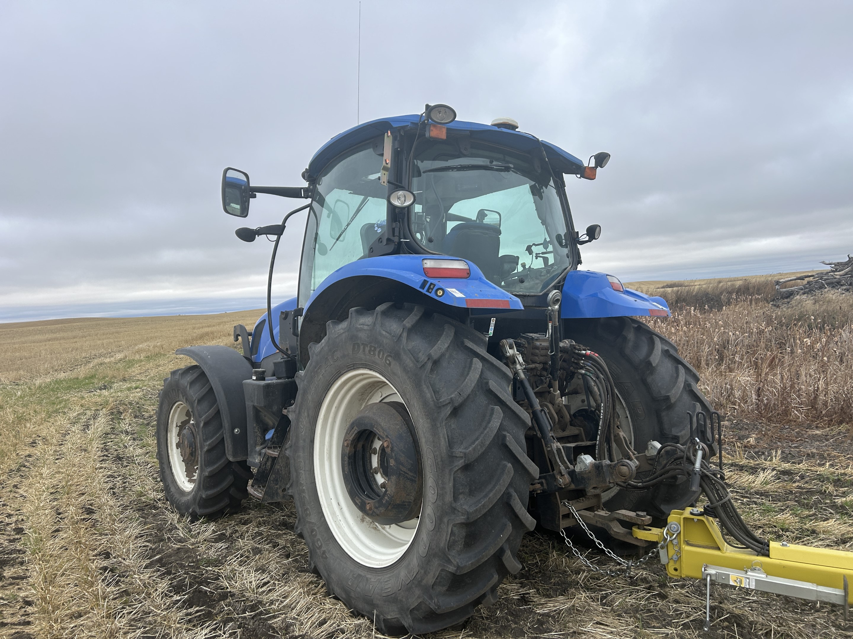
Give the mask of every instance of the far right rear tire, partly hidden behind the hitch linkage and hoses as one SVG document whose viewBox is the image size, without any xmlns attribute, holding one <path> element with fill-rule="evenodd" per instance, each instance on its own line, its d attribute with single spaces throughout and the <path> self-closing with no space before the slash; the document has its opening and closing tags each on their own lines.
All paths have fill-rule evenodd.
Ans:
<svg viewBox="0 0 853 639">
<path fill-rule="evenodd" d="M 651 440 L 687 443 L 688 411 L 710 415 L 713 410 L 699 391 L 699 373 L 682 359 L 676 345 L 639 320 L 570 320 L 566 337 L 604 358 L 629 412 L 636 452 L 646 452 Z M 605 507 L 610 511 L 641 510 L 665 518 L 670 510 L 683 508 L 680 501 L 689 494 L 688 481 L 645 492 L 619 490 L 606 500 Z"/>
</svg>

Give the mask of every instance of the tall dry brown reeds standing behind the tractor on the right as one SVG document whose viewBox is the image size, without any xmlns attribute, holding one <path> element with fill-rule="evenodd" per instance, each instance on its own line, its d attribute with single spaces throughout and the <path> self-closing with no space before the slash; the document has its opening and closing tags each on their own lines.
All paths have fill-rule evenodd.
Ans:
<svg viewBox="0 0 853 639">
<path fill-rule="evenodd" d="M 691 295 L 704 296 L 700 287 Z M 730 296 L 718 309 L 672 308 L 672 318 L 651 324 L 699 371 L 718 410 L 780 424 L 853 423 L 853 295 L 799 296 L 779 308 Z"/>
</svg>

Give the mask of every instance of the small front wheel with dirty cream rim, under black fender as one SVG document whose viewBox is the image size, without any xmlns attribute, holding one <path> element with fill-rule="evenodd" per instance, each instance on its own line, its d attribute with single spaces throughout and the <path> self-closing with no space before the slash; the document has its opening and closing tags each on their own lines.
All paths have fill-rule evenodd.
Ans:
<svg viewBox="0 0 853 639">
<path fill-rule="evenodd" d="M 183 448 L 182 448 L 183 446 Z M 214 518 L 240 509 L 252 471 L 225 454 L 216 394 L 200 366 L 171 371 L 157 408 L 157 461 L 178 513 Z"/>
</svg>

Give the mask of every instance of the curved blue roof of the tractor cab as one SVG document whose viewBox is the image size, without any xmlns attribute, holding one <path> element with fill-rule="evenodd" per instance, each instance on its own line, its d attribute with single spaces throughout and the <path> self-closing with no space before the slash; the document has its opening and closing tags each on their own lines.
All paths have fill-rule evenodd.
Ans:
<svg viewBox="0 0 853 639">
<path fill-rule="evenodd" d="M 344 153 L 348 148 L 384 135 L 388 130 L 409 126 L 416 127 L 420 119 L 421 116 L 419 115 L 399 115 L 393 118 L 380 118 L 365 122 L 364 124 L 358 124 L 350 130 L 335 135 L 320 147 L 320 150 L 311 158 L 308 164 L 308 179 L 316 179 L 316 176 L 320 175 L 326 164 L 336 158 L 340 153 Z M 473 140 L 500 144 L 503 147 L 509 147 L 522 153 L 531 153 L 539 147 L 539 141 L 535 137 L 521 131 L 499 129 L 490 124 L 461 122 L 460 120 L 454 120 L 450 124 L 446 124 L 446 126 L 450 130 L 467 131 Z M 577 174 L 583 170 L 583 162 L 571 153 L 566 153 L 560 147 L 544 140 L 542 141 L 542 146 L 548 158 L 548 164 L 551 164 L 555 172 Z"/>
</svg>

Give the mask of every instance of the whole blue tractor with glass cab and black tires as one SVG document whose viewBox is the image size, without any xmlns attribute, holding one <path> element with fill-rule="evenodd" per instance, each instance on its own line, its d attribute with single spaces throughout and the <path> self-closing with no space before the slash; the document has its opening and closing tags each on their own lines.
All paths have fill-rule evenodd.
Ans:
<svg viewBox="0 0 853 639">
<path fill-rule="evenodd" d="M 699 494 L 657 465 L 713 430 L 688 413 L 713 413 L 676 347 L 635 319 L 666 302 L 578 270 L 601 227 L 575 230 L 566 177 L 595 179 L 609 158 L 427 105 L 335 136 L 304 187 L 224 170 L 230 215 L 257 193 L 306 200 L 236 231 L 275 237 L 271 285 L 281 233 L 304 217 L 299 291 L 273 306 L 268 290 L 252 331 L 234 327 L 242 353 L 177 351 L 196 364 L 160 394 L 171 504 L 214 517 L 249 494 L 293 499 L 311 568 L 386 633 L 495 602 L 534 527 L 651 544 L 631 527 Z"/>
</svg>

